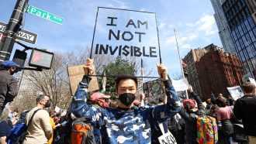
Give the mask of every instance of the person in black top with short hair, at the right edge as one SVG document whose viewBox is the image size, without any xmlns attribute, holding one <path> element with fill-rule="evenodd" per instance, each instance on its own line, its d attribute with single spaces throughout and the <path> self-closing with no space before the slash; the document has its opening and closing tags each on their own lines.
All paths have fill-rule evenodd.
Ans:
<svg viewBox="0 0 256 144">
<path fill-rule="evenodd" d="M 241 119 L 247 132 L 249 143 L 256 143 L 256 86 L 251 82 L 242 85 L 244 97 L 237 99 L 234 115 Z"/>
</svg>

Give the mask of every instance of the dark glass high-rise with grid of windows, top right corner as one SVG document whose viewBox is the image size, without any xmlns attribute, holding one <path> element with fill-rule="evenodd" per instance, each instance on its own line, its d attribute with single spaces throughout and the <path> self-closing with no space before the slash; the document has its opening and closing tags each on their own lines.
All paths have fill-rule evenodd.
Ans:
<svg viewBox="0 0 256 144">
<path fill-rule="evenodd" d="M 247 3 L 245 0 L 225 0 L 221 6 L 244 72 L 253 77 L 256 64 L 256 25 Z M 254 2 L 250 4 L 254 5 Z"/>
</svg>

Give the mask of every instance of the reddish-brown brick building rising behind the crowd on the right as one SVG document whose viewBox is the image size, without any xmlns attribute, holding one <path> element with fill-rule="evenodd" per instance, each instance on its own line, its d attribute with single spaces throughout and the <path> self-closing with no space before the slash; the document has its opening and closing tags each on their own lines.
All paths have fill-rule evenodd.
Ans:
<svg viewBox="0 0 256 144">
<path fill-rule="evenodd" d="M 210 98 L 210 91 L 227 97 L 227 87 L 242 84 L 244 71 L 239 58 L 223 52 L 220 47 L 211 47 L 208 53 L 195 62 L 195 67 L 200 85 L 199 94 L 205 100 Z"/>
</svg>

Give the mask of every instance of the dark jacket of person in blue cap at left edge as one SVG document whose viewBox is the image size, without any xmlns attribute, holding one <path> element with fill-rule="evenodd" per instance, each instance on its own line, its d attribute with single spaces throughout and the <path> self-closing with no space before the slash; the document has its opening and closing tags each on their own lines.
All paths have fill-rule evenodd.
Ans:
<svg viewBox="0 0 256 144">
<path fill-rule="evenodd" d="M 13 101 L 18 94 L 18 82 L 7 70 L 0 71 L 0 107 Z"/>
</svg>

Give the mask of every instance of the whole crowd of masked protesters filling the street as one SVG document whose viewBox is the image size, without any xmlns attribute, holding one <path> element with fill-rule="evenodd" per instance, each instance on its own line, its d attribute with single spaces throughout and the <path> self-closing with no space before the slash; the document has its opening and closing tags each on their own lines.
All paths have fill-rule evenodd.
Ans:
<svg viewBox="0 0 256 144">
<path fill-rule="evenodd" d="M 6 83 L 16 84 L 11 72 L 18 67 L 8 61 L 2 63 L 0 88 Z M 50 96 L 36 98 L 31 110 L 9 110 L 7 118 L 0 121 L 0 144 L 5 143 L 249 143 L 256 144 L 256 86 L 251 82 L 242 85 L 244 97 L 234 101 L 222 94 L 206 100 L 189 85 L 189 99 L 181 100 L 168 77 L 168 69 L 157 64 L 164 84 L 165 96 L 147 102 L 144 94 L 137 95 L 137 78 L 120 75 L 116 78 L 119 101 L 111 101 L 104 91 L 88 94 L 89 75 L 93 74 L 93 60 L 84 66 L 85 76 L 67 111 L 50 109 Z M 9 78 L 6 78 L 9 74 Z M 4 75 L 4 76 L 2 76 Z M 3 79 L 5 77 L 5 79 Z M 8 81 L 7 81 L 8 80 Z M 5 83 L 5 84 L 4 84 Z M 0 91 L 0 111 L 12 101 L 16 90 Z M 1 116 L 1 115 L 0 115 Z M 200 121 L 208 122 L 205 127 Z M 215 125 L 216 123 L 216 125 Z M 22 135 L 14 135 L 18 125 L 26 125 Z M 199 125 L 200 124 L 200 125 Z M 207 124 L 207 125 L 208 125 Z M 208 126 L 209 126 L 208 125 Z M 216 127 L 215 127 L 216 126 Z M 207 135 L 203 135 L 203 132 Z M 174 136 L 174 141 L 158 139 L 164 133 Z M 209 132 L 209 133 L 207 133 Z M 205 136 L 205 137 L 204 137 Z"/>
</svg>

